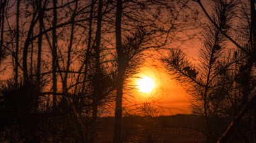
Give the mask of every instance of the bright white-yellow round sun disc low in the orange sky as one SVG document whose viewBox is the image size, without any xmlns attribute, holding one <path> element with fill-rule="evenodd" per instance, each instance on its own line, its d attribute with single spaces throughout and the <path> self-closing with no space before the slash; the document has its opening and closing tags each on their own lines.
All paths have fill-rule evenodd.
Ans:
<svg viewBox="0 0 256 143">
<path fill-rule="evenodd" d="M 148 76 L 142 76 L 137 81 L 137 88 L 141 93 L 150 93 L 155 87 L 154 81 Z"/>
</svg>

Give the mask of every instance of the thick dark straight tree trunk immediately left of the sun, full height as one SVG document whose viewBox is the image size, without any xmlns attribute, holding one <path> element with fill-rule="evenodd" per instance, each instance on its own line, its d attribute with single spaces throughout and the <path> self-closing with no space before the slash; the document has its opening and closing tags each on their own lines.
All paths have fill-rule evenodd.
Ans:
<svg viewBox="0 0 256 143">
<path fill-rule="evenodd" d="M 122 17 L 122 0 L 117 1 L 116 13 L 116 49 L 117 49 L 117 97 L 115 107 L 115 128 L 114 143 L 122 142 L 122 99 L 123 99 L 123 80 L 124 80 L 124 54 L 122 49 L 121 37 L 121 17 Z"/>
</svg>

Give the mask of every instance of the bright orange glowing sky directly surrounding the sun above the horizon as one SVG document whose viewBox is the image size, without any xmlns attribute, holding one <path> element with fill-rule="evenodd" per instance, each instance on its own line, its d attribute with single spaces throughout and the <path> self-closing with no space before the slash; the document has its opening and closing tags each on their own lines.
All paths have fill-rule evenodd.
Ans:
<svg viewBox="0 0 256 143">
<path fill-rule="evenodd" d="M 195 42 L 194 42 L 195 44 Z M 197 59 L 198 46 L 201 44 L 197 41 L 197 46 L 181 47 L 184 52 L 191 58 L 191 60 Z M 191 44 L 193 46 L 193 44 Z M 177 81 L 174 81 L 168 71 L 164 68 L 164 64 L 160 62 L 161 54 L 154 52 L 148 56 L 140 68 L 140 72 L 131 78 L 128 85 L 135 87 L 137 80 L 143 75 L 150 77 L 155 82 L 155 87 L 151 93 L 141 93 L 139 89 L 130 89 L 125 94 L 128 101 L 124 100 L 123 106 L 126 107 L 126 111 L 139 111 L 143 103 L 152 103 L 154 107 L 160 109 L 164 115 L 173 115 L 177 113 L 191 113 L 189 109 L 189 95 L 185 91 L 184 87 L 181 87 Z M 195 60 L 194 62 L 197 62 Z M 162 107 L 162 108 L 161 108 Z M 135 110 L 134 110 L 135 109 Z M 135 112 L 133 112 L 135 113 Z"/>
</svg>

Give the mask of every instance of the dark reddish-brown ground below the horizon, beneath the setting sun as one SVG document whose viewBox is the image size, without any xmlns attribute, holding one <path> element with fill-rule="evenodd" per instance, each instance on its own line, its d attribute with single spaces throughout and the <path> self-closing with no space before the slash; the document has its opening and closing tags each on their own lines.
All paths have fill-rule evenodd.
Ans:
<svg viewBox="0 0 256 143">
<path fill-rule="evenodd" d="M 173 115 L 165 117 L 123 117 L 124 142 L 204 142 L 201 117 Z M 98 123 L 98 143 L 112 142 L 114 117 L 102 117 Z"/>
</svg>

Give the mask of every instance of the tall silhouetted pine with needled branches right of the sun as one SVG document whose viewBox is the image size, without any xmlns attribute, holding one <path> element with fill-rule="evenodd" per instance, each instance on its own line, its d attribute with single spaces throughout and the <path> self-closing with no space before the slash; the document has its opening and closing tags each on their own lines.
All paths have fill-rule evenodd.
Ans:
<svg viewBox="0 0 256 143">
<path fill-rule="evenodd" d="M 230 122 L 236 115 L 241 121 L 239 116 L 242 112 L 245 115 L 245 111 L 239 113 L 238 109 L 247 107 L 245 103 L 254 99 L 255 85 L 251 83 L 254 80 L 252 68 L 255 60 L 252 57 L 255 52 L 253 52 L 253 46 L 241 46 L 242 43 L 248 42 L 249 35 L 253 35 L 253 32 L 249 30 L 251 26 L 248 25 L 245 29 L 241 29 L 240 35 L 245 38 L 240 38 L 241 44 L 230 37 L 234 26 L 232 19 L 238 15 L 234 9 L 237 10 L 238 5 L 241 4 L 238 1 L 214 1 L 213 15 L 205 11 L 201 1 L 197 3 L 210 20 L 204 34 L 204 48 L 199 51 L 201 64 L 193 66 L 181 50 L 170 50 L 163 62 L 175 79 L 187 85 L 193 97 L 193 112 L 205 117 L 207 142 L 216 142 L 228 126 L 226 122 Z M 233 53 L 225 51 L 225 47 L 230 43 L 234 44 L 238 50 Z M 241 126 L 241 129 L 251 130 L 246 126 Z M 241 136 L 236 136 L 236 140 L 245 139 Z M 224 142 L 227 141 L 225 140 Z"/>
</svg>

